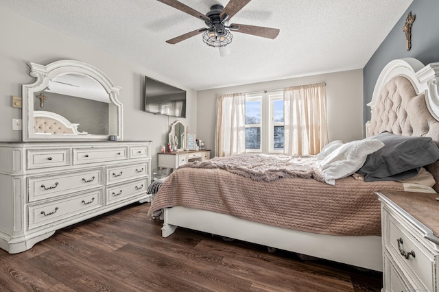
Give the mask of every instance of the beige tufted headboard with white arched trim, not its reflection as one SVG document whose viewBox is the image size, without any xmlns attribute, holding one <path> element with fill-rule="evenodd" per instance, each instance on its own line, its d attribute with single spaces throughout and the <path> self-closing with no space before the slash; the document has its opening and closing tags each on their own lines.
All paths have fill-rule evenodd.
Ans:
<svg viewBox="0 0 439 292">
<path fill-rule="evenodd" d="M 439 63 L 424 66 L 414 58 L 394 60 L 379 75 L 366 135 L 384 131 L 427 136 L 439 145 Z M 439 162 L 427 166 L 439 193 Z"/>
</svg>

